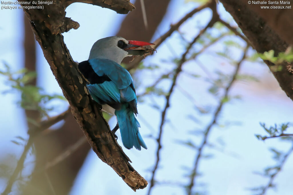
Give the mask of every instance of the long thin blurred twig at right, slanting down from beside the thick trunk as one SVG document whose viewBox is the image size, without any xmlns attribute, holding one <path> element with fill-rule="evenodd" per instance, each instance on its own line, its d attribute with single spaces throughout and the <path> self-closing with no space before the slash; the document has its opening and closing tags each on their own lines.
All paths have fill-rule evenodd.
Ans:
<svg viewBox="0 0 293 195">
<path fill-rule="evenodd" d="M 246 58 L 246 52 L 247 52 L 248 48 L 249 48 L 249 46 L 247 45 L 245 50 L 244 50 L 244 52 L 243 52 L 243 56 L 242 56 L 241 60 L 237 63 L 237 66 L 236 66 L 236 69 L 235 69 L 235 72 L 233 74 L 232 79 L 231 79 L 231 81 L 229 82 L 228 86 L 225 89 L 225 94 L 224 94 L 223 98 L 221 99 L 221 101 L 219 103 L 219 106 L 216 109 L 216 112 L 214 113 L 213 119 L 212 119 L 212 121 L 210 122 L 210 124 L 207 126 L 207 128 L 204 131 L 203 141 L 202 141 L 202 144 L 200 145 L 200 147 L 198 148 L 198 153 L 197 153 L 197 156 L 195 158 L 194 168 L 193 168 L 193 170 L 191 172 L 191 180 L 190 180 L 190 184 L 188 185 L 188 188 L 187 188 L 188 195 L 192 194 L 192 188 L 196 184 L 195 183 L 195 177 L 197 175 L 198 163 L 199 163 L 200 157 L 202 155 L 202 150 L 205 147 L 205 145 L 207 144 L 207 137 L 209 135 L 209 132 L 212 129 L 212 127 L 217 123 L 219 113 L 221 112 L 222 106 L 224 104 L 223 100 L 228 98 L 228 93 L 229 93 L 229 91 L 231 89 L 232 84 L 236 80 L 236 76 L 237 76 L 237 74 L 239 72 L 239 68 L 240 68 L 241 63 Z"/>
</svg>

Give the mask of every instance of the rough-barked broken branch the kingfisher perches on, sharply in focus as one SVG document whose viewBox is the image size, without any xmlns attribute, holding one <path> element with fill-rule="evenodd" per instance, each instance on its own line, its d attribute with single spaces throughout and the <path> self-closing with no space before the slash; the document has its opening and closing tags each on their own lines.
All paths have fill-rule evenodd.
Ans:
<svg viewBox="0 0 293 195">
<path fill-rule="evenodd" d="M 132 168 L 129 163 L 130 159 L 117 144 L 107 122 L 101 115 L 99 106 L 88 94 L 77 64 L 72 60 L 64 44 L 61 33 L 79 27 L 77 22 L 65 17 L 66 6 L 73 2 L 91 3 L 113 9 L 118 13 L 128 13 L 134 9 L 134 6 L 127 0 L 55 0 L 53 5 L 45 5 L 44 9 L 24 9 L 24 11 L 30 20 L 35 38 L 93 151 L 103 162 L 110 165 L 134 191 L 142 189 L 146 187 L 147 181 Z"/>
</svg>

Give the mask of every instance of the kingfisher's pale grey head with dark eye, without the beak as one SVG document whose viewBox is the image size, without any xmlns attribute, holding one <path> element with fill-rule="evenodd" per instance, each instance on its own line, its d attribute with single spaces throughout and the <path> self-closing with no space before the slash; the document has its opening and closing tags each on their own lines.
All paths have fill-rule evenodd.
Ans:
<svg viewBox="0 0 293 195">
<path fill-rule="evenodd" d="M 104 58 L 120 64 L 128 55 L 128 52 L 124 50 L 127 44 L 126 39 L 117 36 L 99 39 L 93 44 L 88 59 Z"/>
</svg>

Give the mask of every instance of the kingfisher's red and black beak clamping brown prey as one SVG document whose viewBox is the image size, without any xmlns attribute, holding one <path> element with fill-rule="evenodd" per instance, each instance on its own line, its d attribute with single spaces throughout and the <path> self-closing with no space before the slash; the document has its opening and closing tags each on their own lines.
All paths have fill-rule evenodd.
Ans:
<svg viewBox="0 0 293 195">
<path fill-rule="evenodd" d="M 143 42 L 143 41 L 128 41 L 127 46 L 124 48 L 130 56 L 147 56 L 153 51 L 156 51 L 151 47 L 153 43 Z"/>
</svg>

